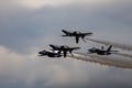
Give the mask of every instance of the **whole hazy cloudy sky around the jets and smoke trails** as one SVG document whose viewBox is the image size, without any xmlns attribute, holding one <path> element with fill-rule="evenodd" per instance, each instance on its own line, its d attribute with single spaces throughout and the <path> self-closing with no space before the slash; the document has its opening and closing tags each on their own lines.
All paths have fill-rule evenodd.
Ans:
<svg viewBox="0 0 132 88">
<path fill-rule="evenodd" d="M 131 0 L 0 0 L 0 88 L 132 88 L 132 70 L 38 57 L 48 44 L 81 46 L 62 29 L 132 45 Z M 125 58 L 124 58 L 125 59 Z"/>
</svg>

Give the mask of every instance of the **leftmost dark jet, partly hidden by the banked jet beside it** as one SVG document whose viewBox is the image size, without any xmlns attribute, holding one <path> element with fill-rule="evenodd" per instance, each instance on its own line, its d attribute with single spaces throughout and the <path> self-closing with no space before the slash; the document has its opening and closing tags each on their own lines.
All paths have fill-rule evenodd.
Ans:
<svg viewBox="0 0 132 88">
<path fill-rule="evenodd" d="M 61 53 L 56 53 L 56 52 L 51 52 L 51 51 L 42 51 L 38 52 L 40 56 L 48 56 L 48 57 L 62 57 Z"/>
</svg>

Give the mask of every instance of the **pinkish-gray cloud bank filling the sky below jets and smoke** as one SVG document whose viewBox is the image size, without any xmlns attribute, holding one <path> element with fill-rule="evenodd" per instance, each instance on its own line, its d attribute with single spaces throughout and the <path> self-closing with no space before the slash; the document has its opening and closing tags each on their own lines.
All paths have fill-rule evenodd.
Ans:
<svg viewBox="0 0 132 88">
<path fill-rule="evenodd" d="M 37 57 L 34 53 L 23 55 L 0 46 L 0 87 L 131 88 L 131 74 L 130 69 L 109 68 L 72 58 Z"/>
</svg>

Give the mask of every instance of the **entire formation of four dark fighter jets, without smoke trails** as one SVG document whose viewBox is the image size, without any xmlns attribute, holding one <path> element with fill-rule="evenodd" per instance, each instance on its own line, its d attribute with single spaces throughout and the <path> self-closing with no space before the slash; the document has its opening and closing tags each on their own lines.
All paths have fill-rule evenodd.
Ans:
<svg viewBox="0 0 132 88">
<path fill-rule="evenodd" d="M 74 36 L 76 38 L 76 44 L 79 43 L 79 37 L 81 37 L 85 41 L 85 36 L 91 36 L 92 35 L 92 32 L 88 32 L 88 33 L 81 33 L 79 31 L 66 31 L 66 30 L 62 30 L 62 32 L 65 34 L 65 35 L 62 35 L 62 36 Z M 38 52 L 40 56 L 48 56 L 48 57 L 66 57 L 67 56 L 67 53 L 69 53 L 70 55 L 73 55 L 73 51 L 76 51 L 76 50 L 79 50 L 80 47 L 70 47 L 68 45 L 54 45 L 54 44 L 50 44 L 50 47 L 52 47 L 51 50 L 52 51 L 41 51 Z M 96 53 L 98 55 L 110 55 L 114 52 L 118 52 L 118 51 L 111 51 L 111 47 L 112 45 L 110 45 L 107 50 L 103 48 L 103 46 L 100 48 L 96 48 L 96 47 L 92 47 L 92 48 L 89 48 L 88 50 L 88 54 L 92 54 L 92 53 Z"/>
</svg>

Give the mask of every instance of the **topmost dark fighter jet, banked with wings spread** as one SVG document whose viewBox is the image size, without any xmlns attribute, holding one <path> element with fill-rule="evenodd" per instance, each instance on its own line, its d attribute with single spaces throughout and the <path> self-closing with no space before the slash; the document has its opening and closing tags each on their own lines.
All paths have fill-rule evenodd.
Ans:
<svg viewBox="0 0 132 88">
<path fill-rule="evenodd" d="M 66 35 L 62 35 L 62 36 L 75 36 L 77 44 L 78 44 L 78 42 L 79 42 L 79 37 L 81 37 L 81 38 L 84 40 L 84 42 L 86 42 L 86 41 L 85 41 L 85 36 L 86 36 L 86 35 L 87 35 L 87 36 L 92 35 L 91 32 L 89 32 L 89 33 L 81 33 L 81 32 L 79 32 L 79 31 L 69 32 L 69 31 L 66 31 L 66 30 L 62 30 L 62 32 L 66 34 Z"/>
</svg>

